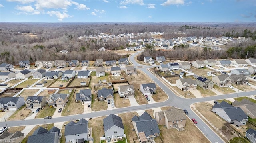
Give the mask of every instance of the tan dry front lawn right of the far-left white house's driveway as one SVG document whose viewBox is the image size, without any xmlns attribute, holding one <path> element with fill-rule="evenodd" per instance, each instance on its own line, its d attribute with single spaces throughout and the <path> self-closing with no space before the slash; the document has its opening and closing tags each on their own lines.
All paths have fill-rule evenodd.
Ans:
<svg viewBox="0 0 256 143">
<path fill-rule="evenodd" d="M 31 110 L 30 109 L 26 109 L 26 106 L 23 105 L 23 106 L 21 106 L 21 108 L 19 110 L 15 111 L 12 114 L 12 116 L 10 116 L 7 120 L 8 121 L 14 121 L 14 120 L 25 119 L 26 117 L 28 117 L 30 112 L 31 112 Z"/>
</svg>

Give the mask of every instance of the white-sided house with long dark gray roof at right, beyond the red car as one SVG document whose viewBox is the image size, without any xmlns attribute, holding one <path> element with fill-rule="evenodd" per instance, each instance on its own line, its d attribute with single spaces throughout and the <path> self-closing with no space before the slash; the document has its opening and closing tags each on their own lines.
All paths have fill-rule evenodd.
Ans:
<svg viewBox="0 0 256 143">
<path fill-rule="evenodd" d="M 218 114 L 222 119 L 235 125 L 245 125 L 248 121 L 247 115 L 240 107 L 233 107 L 225 101 L 212 106 L 212 112 Z"/>
</svg>

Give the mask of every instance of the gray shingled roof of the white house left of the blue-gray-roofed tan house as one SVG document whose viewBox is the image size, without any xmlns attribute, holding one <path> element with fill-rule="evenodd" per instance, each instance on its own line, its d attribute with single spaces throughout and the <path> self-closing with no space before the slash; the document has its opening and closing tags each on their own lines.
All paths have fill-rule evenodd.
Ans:
<svg viewBox="0 0 256 143">
<path fill-rule="evenodd" d="M 113 126 L 117 126 L 124 129 L 124 125 L 121 117 L 116 116 L 114 114 L 110 114 L 109 116 L 103 119 L 103 126 L 104 126 L 104 131 L 107 131 Z"/>
</svg>

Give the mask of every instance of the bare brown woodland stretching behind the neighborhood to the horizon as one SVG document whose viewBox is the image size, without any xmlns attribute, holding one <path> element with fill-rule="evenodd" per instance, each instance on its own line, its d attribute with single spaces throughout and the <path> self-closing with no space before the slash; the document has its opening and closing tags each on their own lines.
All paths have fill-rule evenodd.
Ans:
<svg viewBox="0 0 256 143">
<path fill-rule="evenodd" d="M 0 23 L 0 63 L 18 64 L 21 60 L 54 61 L 56 59 L 70 61 L 72 59 L 117 60 L 127 55 L 118 55 L 111 50 L 124 49 L 129 46 L 126 40 L 115 42 L 78 41 L 84 35 L 110 33 L 164 32 L 162 38 L 172 39 L 188 36 L 232 36 L 246 37 L 244 42 L 225 45 L 224 50 L 211 50 L 209 47 L 188 48 L 177 46 L 171 51 L 156 51 L 147 45 L 138 59 L 144 56 L 166 56 L 168 59 L 193 61 L 195 59 L 231 59 L 256 56 L 256 24 L 255 23 Z M 186 32 L 179 35 L 177 31 Z M 151 38 L 144 36 L 140 38 Z M 108 52 L 97 52 L 100 47 Z M 68 50 L 67 54 L 59 53 Z"/>
</svg>

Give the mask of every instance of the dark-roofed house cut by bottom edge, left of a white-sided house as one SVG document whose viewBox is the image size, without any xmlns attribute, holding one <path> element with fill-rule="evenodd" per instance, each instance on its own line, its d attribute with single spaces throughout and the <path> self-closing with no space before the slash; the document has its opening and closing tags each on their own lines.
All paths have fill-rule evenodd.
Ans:
<svg viewBox="0 0 256 143">
<path fill-rule="evenodd" d="M 28 136 L 27 143 L 58 143 L 60 139 L 60 129 L 52 127 L 49 131 L 43 127 L 37 128 L 34 133 Z"/>
</svg>

